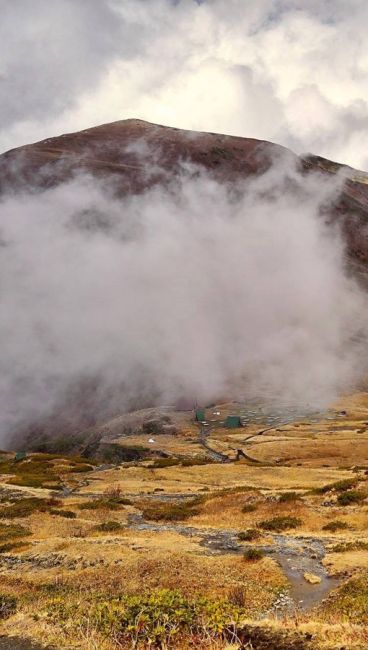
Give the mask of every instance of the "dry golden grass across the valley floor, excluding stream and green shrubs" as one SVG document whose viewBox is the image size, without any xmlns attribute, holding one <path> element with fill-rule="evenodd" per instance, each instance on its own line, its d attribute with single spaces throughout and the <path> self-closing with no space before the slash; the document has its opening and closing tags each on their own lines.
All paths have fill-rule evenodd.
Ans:
<svg viewBox="0 0 368 650">
<path fill-rule="evenodd" d="M 218 428 L 211 432 L 210 444 L 214 448 L 225 453 L 243 448 L 261 460 L 281 458 L 280 465 L 262 467 L 238 462 L 153 469 L 141 464 L 92 472 L 83 477 L 70 476 L 68 481 L 74 481 L 75 485 L 80 485 L 81 479 L 88 481 L 78 490 L 81 496 L 71 495 L 63 499 L 60 506 L 76 513 L 76 519 L 35 512 L 19 520 L 32 531 L 29 546 L 20 551 L 19 556 L 49 557 L 56 554 L 62 556 L 63 560 L 61 566 L 51 568 L 42 568 L 32 562 L 16 568 L 1 567 L 2 589 L 16 594 L 21 603 L 18 614 L 4 622 L 3 633 L 24 637 L 30 635 L 44 643 L 54 643 L 60 649 L 116 648 L 111 642 L 97 637 L 93 631 L 90 636 L 70 639 L 43 615 L 38 620 L 34 618 L 34 615 L 44 611 L 54 587 L 65 587 L 66 593 L 70 592 L 71 595 L 78 593 L 78 590 L 81 590 L 81 594 L 84 591 L 115 594 L 168 588 L 179 589 L 188 595 L 200 592 L 212 597 L 231 596 L 233 590 L 240 589 L 244 596 L 245 615 L 250 619 L 257 618 L 269 608 L 275 593 L 286 587 L 281 569 L 272 560 L 263 558 L 257 563 L 247 563 L 240 555 L 211 554 L 201 544 L 200 536 L 179 535 L 172 530 L 139 531 L 126 527 L 106 533 L 96 530 L 96 526 L 109 521 L 126 526 L 129 515 L 139 512 L 140 505 L 144 502 L 155 504 L 154 498 L 149 500 L 150 495 L 193 494 L 203 495 L 204 499 L 196 506 L 198 513 L 185 521 L 185 525 L 198 529 L 243 531 L 257 527 L 266 519 L 292 516 L 299 518 L 302 524 L 286 531 L 285 534 L 291 537 L 311 535 L 324 538 L 327 543 L 331 540 L 331 547 L 340 541 L 368 542 L 366 503 L 341 507 L 335 502 L 337 493 L 310 492 L 312 488 L 356 477 L 360 480 L 359 489 L 368 491 L 368 479 L 363 471 L 357 474 L 349 469 L 341 469 L 364 465 L 366 457 L 368 463 L 368 434 L 355 433 L 365 426 L 366 420 L 368 422 L 368 394 L 344 398 L 334 408 L 336 413 L 339 409 L 346 410 L 347 416 L 329 416 L 333 419 L 318 423 L 306 420 L 280 427 L 282 431 L 273 429 L 262 438 L 257 437 L 246 444 L 243 444 L 244 438 L 260 427 L 251 425 L 246 430 L 234 432 Z M 231 412 L 232 406 L 221 405 L 219 410 L 223 417 Z M 160 445 L 157 448 L 188 457 L 203 453 L 197 443 L 197 425 L 188 422 L 188 414 L 180 417 L 180 435 L 153 435 Z M 121 422 L 117 419 L 114 421 L 116 432 L 119 426 Z M 126 444 L 148 446 L 147 439 L 147 435 L 129 437 Z M 119 442 L 122 440 L 119 439 Z M 292 466 L 282 466 L 285 460 Z M 298 466 L 299 462 L 303 463 L 302 466 Z M 330 466 L 321 467 L 327 464 Z M 6 481 L 8 478 L 0 477 L 0 480 Z M 247 486 L 251 489 L 236 491 L 236 488 Z M 122 496 L 133 498 L 132 505 L 123 505 L 116 510 L 107 507 L 94 510 L 79 508 L 83 501 L 90 499 L 89 493 L 102 495 L 107 489 L 116 487 L 120 487 Z M 38 488 L 14 486 L 14 490 L 35 496 L 50 495 L 48 490 Z M 296 491 L 301 499 L 278 503 L 275 497 L 285 491 Z M 328 507 L 323 505 L 325 502 L 330 502 Z M 244 505 L 252 503 L 256 504 L 255 510 L 242 512 Z M 348 528 L 336 532 L 323 530 L 325 524 L 335 520 L 346 522 Z M 254 544 L 256 546 L 263 542 L 271 543 L 271 536 L 264 533 L 261 541 Z M 73 569 L 70 568 L 71 561 L 76 561 Z M 365 550 L 329 552 L 325 559 L 330 573 L 347 572 L 350 575 L 367 564 L 368 552 Z M 50 593 L 45 585 L 50 588 Z M 268 623 L 274 629 L 286 627 L 315 634 L 316 650 L 323 647 L 330 650 L 333 644 L 338 647 L 345 645 L 349 650 L 368 647 L 367 632 L 363 627 L 343 622 L 341 617 L 340 620 L 327 621 L 322 615 L 309 612 Z M 218 643 L 207 645 L 206 648 L 225 650 L 225 645 Z M 184 650 L 184 646 L 181 650 Z"/>
</svg>

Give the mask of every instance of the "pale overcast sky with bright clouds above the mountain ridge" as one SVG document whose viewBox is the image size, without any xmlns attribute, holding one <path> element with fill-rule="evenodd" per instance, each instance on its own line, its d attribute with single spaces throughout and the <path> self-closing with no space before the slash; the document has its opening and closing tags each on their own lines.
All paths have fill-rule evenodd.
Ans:
<svg viewBox="0 0 368 650">
<path fill-rule="evenodd" d="M 367 0 L 0 7 L 0 151 L 137 117 L 368 169 Z"/>
</svg>

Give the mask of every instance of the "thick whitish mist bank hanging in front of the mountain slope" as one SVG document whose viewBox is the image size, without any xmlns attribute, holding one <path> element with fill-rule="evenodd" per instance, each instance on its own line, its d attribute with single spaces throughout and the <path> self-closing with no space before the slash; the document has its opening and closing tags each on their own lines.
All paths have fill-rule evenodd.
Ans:
<svg viewBox="0 0 368 650">
<path fill-rule="evenodd" d="M 5 197 L 3 438 L 88 379 L 100 394 L 92 421 L 101 403 L 111 413 L 231 395 L 316 407 L 350 388 L 365 370 L 366 298 L 319 215 L 340 182 L 301 179 L 286 156 L 237 187 L 189 166 L 124 199 L 88 176 Z"/>
</svg>

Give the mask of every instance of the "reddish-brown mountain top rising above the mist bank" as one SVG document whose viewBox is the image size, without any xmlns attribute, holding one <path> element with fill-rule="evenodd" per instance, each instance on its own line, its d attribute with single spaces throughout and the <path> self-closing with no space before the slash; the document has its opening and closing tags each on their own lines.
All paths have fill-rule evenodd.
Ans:
<svg viewBox="0 0 368 650">
<path fill-rule="evenodd" d="M 286 159 L 301 174 L 341 173 L 344 187 L 331 213 L 342 223 L 350 263 L 368 267 L 368 175 L 315 155 L 298 157 L 253 138 L 197 133 L 128 119 L 68 133 L 0 156 L 0 193 L 43 190 L 85 172 L 108 180 L 120 195 L 142 192 L 172 178 L 183 164 L 203 167 L 222 182 L 264 173 Z"/>
</svg>

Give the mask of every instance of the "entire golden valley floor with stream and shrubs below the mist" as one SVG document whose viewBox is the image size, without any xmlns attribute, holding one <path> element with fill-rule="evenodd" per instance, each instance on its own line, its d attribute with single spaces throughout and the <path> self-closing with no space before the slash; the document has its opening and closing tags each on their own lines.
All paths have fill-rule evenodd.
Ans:
<svg viewBox="0 0 368 650">
<path fill-rule="evenodd" d="M 366 649 L 368 394 L 165 413 L 104 427 L 140 460 L 2 454 L 0 648 Z"/>
</svg>

